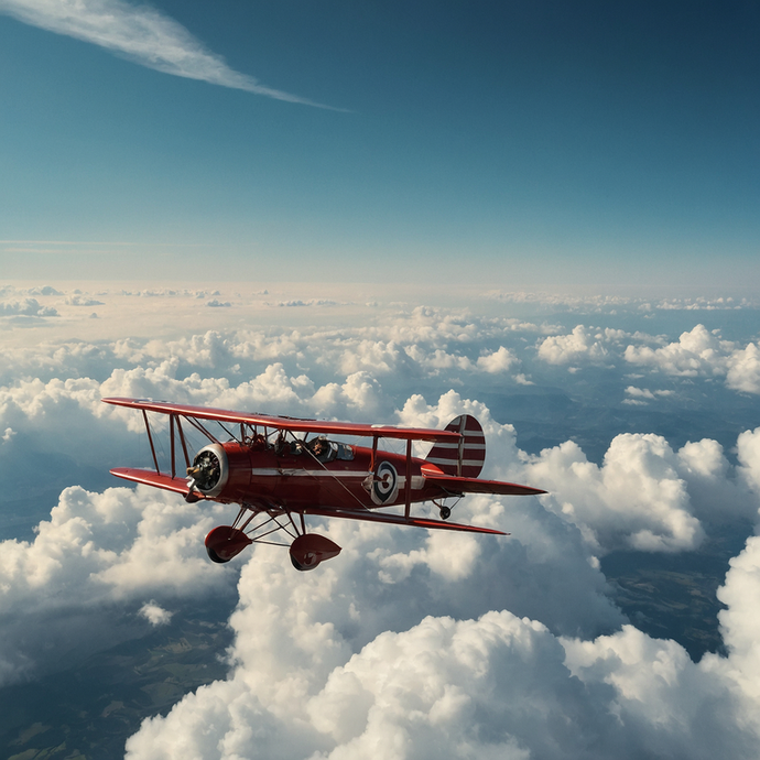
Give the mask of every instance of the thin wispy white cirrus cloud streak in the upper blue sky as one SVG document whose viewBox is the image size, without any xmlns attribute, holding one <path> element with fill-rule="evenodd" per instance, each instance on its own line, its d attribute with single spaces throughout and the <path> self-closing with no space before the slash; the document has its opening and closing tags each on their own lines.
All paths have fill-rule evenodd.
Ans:
<svg viewBox="0 0 760 760">
<path fill-rule="evenodd" d="M 0 13 L 56 34 L 91 42 L 165 74 L 276 100 L 340 110 L 267 87 L 254 77 L 236 72 L 182 24 L 148 6 L 132 6 L 122 0 L 0 0 Z"/>
</svg>

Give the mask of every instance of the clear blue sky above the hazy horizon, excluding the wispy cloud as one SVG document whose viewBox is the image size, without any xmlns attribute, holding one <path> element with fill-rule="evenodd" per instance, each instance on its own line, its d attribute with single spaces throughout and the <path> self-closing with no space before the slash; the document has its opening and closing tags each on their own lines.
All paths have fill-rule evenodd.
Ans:
<svg viewBox="0 0 760 760">
<path fill-rule="evenodd" d="M 0 2 L 6 276 L 758 274 L 752 3 L 152 6 L 218 80 L 330 108 L 154 70 L 54 7 Z M 145 12 L 77 13 L 113 8 Z"/>
</svg>

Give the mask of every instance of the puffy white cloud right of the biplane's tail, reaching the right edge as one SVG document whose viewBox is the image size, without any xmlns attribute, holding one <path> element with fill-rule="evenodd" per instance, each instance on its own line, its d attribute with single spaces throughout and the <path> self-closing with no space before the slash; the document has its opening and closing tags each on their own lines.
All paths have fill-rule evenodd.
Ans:
<svg viewBox="0 0 760 760">
<path fill-rule="evenodd" d="M 703 438 L 673 450 L 652 434 L 616 436 L 601 466 L 572 441 L 528 457 L 525 475 L 551 493 L 544 503 L 583 531 L 596 552 L 696 549 L 701 521 L 757 519 L 760 428 L 738 441 L 739 467 L 716 441 Z"/>
</svg>

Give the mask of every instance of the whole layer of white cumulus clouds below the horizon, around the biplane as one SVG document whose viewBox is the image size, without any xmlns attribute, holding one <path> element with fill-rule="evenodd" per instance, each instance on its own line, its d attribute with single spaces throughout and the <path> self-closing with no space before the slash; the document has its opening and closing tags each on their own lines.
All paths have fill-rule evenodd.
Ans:
<svg viewBox="0 0 760 760">
<path fill-rule="evenodd" d="M 89 298 L 102 302 L 97 322 L 115 324 L 108 292 L 4 295 L 57 310 L 61 317 L 40 318 L 79 336 L 77 304 Z M 267 326 L 247 312 L 241 325 L 239 295 L 143 295 L 119 297 L 143 304 L 145 321 L 176 323 L 174 334 L 45 340 L 33 328 L 42 340 L 4 351 L 0 479 L 24 513 L 40 503 L 45 511 L 26 540 L 0 547 L 0 683 L 42 677 L 64 655 L 140 636 L 183 604 L 235 598 L 237 584 L 229 677 L 146 720 L 128 742 L 130 760 L 753 757 L 760 542 L 747 541 L 719 591 L 727 656 L 697 663 L 631 625 L 599 557 L 698 552 L 716 526 L 757 522 L 760 427 L 736 428 L 725 445 L 706 436 L 675 445 L 647 432 L 605 437 L 614 428 L 599 427 L 605 446 L 594 460 L 569 437 L 526 450 L 529 423 L 500 422 L 495 406 L 509 393 L 551 398 L 542 394 L 560 380 L 580 393 L 594 372 L 610 378 L 609 403 L 626 413 L 639 410 L 626 399 L 678 404 L 682 387 L 659 388 L 658 376 L 723 388 L 730 362 L 751 359 L 747 338 L 724 341 L 699 326 L 686 338 L 652 337 L 633 325 L 411 305 L 354 304 L 347 325 L 319 311 L 339 314 L 337 301 L 284 310 L 280 302 L 303 301 L 286 294 L 262 296 L 271 305 L 261 313 L 297 313 L 295 324 Z M 231 305 L 205 308 L 211 295 Z M 187 332 L 185 303 L 224 312 L 228 326 Z M 9 324 L 14 337 L 21 328 Z M 627 360 L 629 346 L 641 349 L 639 363 Z M 650 374 L 631 384 L 631 368 Z M 109 487 L 109 467 L 144 466 L 150 452 L 139 415 L 102 395 L 437 427 L 469 413 L 487 436 L 484 477 L 550 493 L 456 506 L 457 520 L 510 538 L 315 521 L 343 552 L 314 573 L 295 573 L 270 546 L 219 567 L 207 562 L 203 535 L 228 522 L 229 509 Z M 59 497 L 46 501 L 51 488 Z"/>
</svg>

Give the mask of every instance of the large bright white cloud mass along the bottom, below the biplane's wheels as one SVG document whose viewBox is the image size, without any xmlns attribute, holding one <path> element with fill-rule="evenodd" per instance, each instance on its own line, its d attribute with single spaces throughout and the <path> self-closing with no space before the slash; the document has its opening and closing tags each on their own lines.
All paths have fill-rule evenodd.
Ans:
<svg viewBox="0 0 760 760">
<path fill-rule="evenodd" d="M 497 609 L 423 617 L 357 648 L 351 621 L 369 605 L 345 574 L 289 589 L 257 556 L 230 620 L 230 676 L 145 720 L 126 757 L 753 758 L 758 623 L 743 600 L 760 594 L 758 556 L 751 539 L 720 591 L 728 656 L 699 663 L 632 626 L 557 637 Z"/>
</svg>

